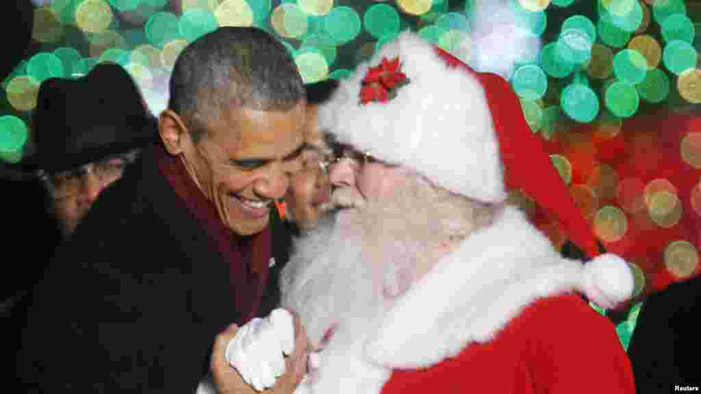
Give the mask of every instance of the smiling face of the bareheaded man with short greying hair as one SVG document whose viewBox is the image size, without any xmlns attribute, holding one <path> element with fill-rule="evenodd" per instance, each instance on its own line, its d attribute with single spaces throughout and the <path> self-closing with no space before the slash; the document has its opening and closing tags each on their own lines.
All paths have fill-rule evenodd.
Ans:
<svg viewBox="0 0 701 394">
<path fill-rule="evenodd" d="M 242 236 L 263 231 L 273 201 L 299 172 L 305 105 L 289 111 L 237 108 L 207 121 L 207 133 L 182 145 L 193 180 L 225 226 Z"/>
</svg>

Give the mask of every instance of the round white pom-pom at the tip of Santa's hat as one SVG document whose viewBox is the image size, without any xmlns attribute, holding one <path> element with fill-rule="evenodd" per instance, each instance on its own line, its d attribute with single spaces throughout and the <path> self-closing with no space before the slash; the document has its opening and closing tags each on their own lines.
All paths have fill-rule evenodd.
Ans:
<svg viewBox="0 0 701 394">
<path fill-rule="evenodd" d="M 580 287 L 594 304 L 605 309 L 613 308 L 633 294 L 633 272 L 615 254 L 601 254 L 584 264 Z"/>
</svg>

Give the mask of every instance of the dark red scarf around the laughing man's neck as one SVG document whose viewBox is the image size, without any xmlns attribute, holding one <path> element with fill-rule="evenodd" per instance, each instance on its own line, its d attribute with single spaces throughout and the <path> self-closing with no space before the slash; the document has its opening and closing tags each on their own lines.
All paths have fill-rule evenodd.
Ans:
<svg viewBox="0 0 701 394">
<path fill-rule="evenodd" d="M 266 287 L 271 258 L 270 228 L 253 236 L 239 236 L 231 231 L 222 223 L 214 203 L 193 182 L 182 161 L 163 147 L 156 151 L 158 169 L 229 264 L 231 293 L 241 319 L 236 323 L 242 325 L 256 316 Z"/>
</svg>

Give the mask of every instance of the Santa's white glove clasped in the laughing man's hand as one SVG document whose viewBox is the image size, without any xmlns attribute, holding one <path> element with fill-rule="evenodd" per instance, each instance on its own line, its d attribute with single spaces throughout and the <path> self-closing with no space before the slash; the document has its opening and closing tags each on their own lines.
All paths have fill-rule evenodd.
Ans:
<svg viewBox="0 0 701 394">
<path fill-rule="evenodd" d="M 257 391 L 271 388 L 285 373 L 285 355 L 294 351 L 294 318 L 278 308 L 267 318 L 240 327 L 226 345 L 226 361 Z"/>
</svg>

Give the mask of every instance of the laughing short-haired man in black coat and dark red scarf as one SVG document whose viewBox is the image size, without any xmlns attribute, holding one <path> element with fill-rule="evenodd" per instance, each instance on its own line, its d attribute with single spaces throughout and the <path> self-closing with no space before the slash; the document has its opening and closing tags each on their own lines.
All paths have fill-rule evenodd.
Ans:
<svg viewBox="0 0 701 394">
<path fill-rule="evenodd" d="M 184 48 L 162 143 L 102 193 L 34 288 L 23 392 L 193 393 L 217 333 L 277 304 L 271 208 L 299 170 L 304 123 L 301 77 L 269 34 L 222 27 Z"/>
</svg>

